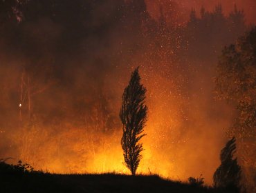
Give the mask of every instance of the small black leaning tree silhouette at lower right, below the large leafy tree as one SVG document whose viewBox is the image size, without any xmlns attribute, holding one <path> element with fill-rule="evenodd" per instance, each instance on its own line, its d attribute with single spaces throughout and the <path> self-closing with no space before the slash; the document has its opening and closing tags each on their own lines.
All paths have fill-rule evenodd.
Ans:
<svg viewBox="0 0 256 193">
<path fill-rule="evenodd" d="M 236 150 L 235 137 L 226 143 L 221 150 L 221 165 L 214 172 L 213 181 L 216 187 L 232 187 L 239 190 L 241 179 L 241 167 L 237 163 L 237 158 L 233 159 Z"/>
</svg>

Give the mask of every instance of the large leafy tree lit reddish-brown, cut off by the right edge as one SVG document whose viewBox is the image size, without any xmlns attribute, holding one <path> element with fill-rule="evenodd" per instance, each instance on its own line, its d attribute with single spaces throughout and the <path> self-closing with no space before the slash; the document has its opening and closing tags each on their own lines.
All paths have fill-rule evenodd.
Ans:
<svg viewBox="0 0 256 193">
<path fill-rule="evenodd" d="M 248 192 L 255 186 L 256 140 L 256 27 L 234 44 L 223 49 L 217 65 L 215 85 L 219 99 L 236 107 L 235 119 L 228 129 L 236 136 L 241 167 Z M 250 191 L 249 191 L 250 190 Z"/>
</svg>

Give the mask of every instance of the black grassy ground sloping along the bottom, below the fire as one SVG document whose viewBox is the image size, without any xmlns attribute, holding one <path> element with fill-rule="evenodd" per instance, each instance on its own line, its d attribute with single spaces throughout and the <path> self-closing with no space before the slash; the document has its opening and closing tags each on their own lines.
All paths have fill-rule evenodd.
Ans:
<svg viewBox="0 0 256 193">
<path fill-rule="evenodd" d="M 160 176 L 124 174 L 48 174 L 30 165 L 0 163 L 0 192 L 233 192 Z"/>
</svg>

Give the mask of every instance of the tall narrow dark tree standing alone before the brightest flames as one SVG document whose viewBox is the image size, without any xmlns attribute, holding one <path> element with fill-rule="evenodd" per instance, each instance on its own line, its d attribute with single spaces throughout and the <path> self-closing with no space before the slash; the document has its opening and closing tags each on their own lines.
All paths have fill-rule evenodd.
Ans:
<svg viewBox="0 0 256 193">
<path fill-rule="evenodd" d="M 143 84 L 140 84 L 138 68 L 131 74 L 129 85 L 125 88 L 122 95 L 122 108 L 120 119 L 122 121 L 122 150 L 125 165 L 129 168 L 132 175 L 142 159 L 140 154 L 143 151 L 143 144 L 140 139 L 145 136 L 143 128 L 147 121 L 147 105 L 145 105 L 145 93 L 147 92 Z"/>
</svg>

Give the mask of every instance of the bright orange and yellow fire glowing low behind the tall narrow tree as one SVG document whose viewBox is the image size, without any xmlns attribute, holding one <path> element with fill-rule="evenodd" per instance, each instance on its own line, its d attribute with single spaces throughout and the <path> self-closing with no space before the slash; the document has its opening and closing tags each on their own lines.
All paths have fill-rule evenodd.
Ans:
<svg viewBox="0 0 256 193">
<path fill-rule="evenodd" d="M 203 147 L 207 141 L 216 144 L 219 140 L 217 132 L 212 132 L 212 138 L 208 139 L 209 132 L 203 131 L 206 125 L 201 122 L 199 134 L 192 132 L 198 129 L 186 125 L 183 112 L 186 100 L 167 77 L 145 69 L 142 80 L 147 88 L 149 115 L 145 127 L 147 135 L 142 139 L 145 150 L 138 174 L 158 174 L 183 181 L 190 176 L 203 174 L 205 181 L 210 184 L 212 174 L 219 165 L 219 147 L 212 147 L 207 154 Z M 120 86 L 117 90 L 117 95 L 121 96 L 123 88 Z M 115 114 L 119 109 L 120 104 L 113 103 Z M 199 118 L 201 114 L 194 111 L 194 116 Z M 104 124 L 98 122 L 101 119 L 95 120 L 95 123 L 86 122 L 79 126 L 64 121 L 63 125 L 58 126 L 62 130 L 55 128 L 55 125 L 49 128 L 45 125 L 35 125 L 30 129 L 24 127 L 20 133 L 15 132 L 13 138 L 20 144 L 17 157 L 33 165 L 35 170 L 53 173 L 130 174 L 124 165 L 120 145 L 122 128 L 102 132 L 99 128 Z M 218 126 L 211 125 L 212 131 Z M 190 132 L 184 130 L 186 127 L 190 127 Z"/>
</svg>

